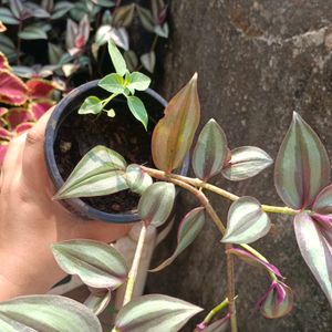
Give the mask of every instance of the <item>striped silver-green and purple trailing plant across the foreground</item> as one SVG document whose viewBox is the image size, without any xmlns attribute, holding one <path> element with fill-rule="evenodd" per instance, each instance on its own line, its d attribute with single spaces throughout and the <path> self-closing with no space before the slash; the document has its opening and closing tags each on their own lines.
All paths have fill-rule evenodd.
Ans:
<svg viewBox="0 0 332 332">
<path fill-rule="evenodd" d="M 8 301 L 0 304 L 2 330 L 3 326 L 12 326 L 18 319 L 22 326 L 29 324 L 37 330 L 43 325 L 52 331 L 68 331 L 62 328 L 68 328 L 70 321 L 74 326 L 71 331 L 101 331 L 96 314 L 105 309 L 111 293 L 125 281 L 124 303 L 116 314 L 113 332 L 178 331 L 191 317 L 203 311 L 191 303 L 163 294 L 132 299 L 147 227 L 159 227 L 167 220 L 173 209 L 176 186 L 191 193 L 198 204 L 181 220 L 177 247 L 172 257 L 151 272 L 170 264 L 209 220 L 216 225 L 220 231 L 220 241 L 226 245 L 228 287 L 225 299 L 220 299 L 220 304 L 197 324 L 196 331 L 226 331 L 229 325 L 232 332 L 237 331 L 236 299 L 243 294 L 236 295 L 235 259 L 267 272 L 270 287 L 256 305 L 263 317 L 278 319 L 291 311 L 293 292 L 284 283 L 284 277 L 272 262 L 250 246 L 269 232 L 269 212 L 294 217 L 300 251 L 332 305 L 332 185 L 330 162 L 318 135 L 298 113 L 293 114 L 274 164 L 276 188 L 286 207 L 268 206 L 253 197 L 238 197 L 216 187 L 209 184 L 209 179 L 224 176 L 229 180 L 245 180 L 270 166 L 271 157 L 253 146 L 230 151 L 226 135 L 215 120 L 204 126 L 193 146 L 199 120 L 195 74 L 170 100 L 165 116 L 154 129 L 152 153 L 157 168 L 127 165 L 120 154 L 104 146 L 92 148 L 82 158 L 55 198 L 108 195 L 124 189 L 141 194 L 138 214 L 142 231 L 133 266 L 128 268 L 123 257 L 105 243 L 90 240 L 55 243 L 53 253 L 60 267 L 69 274 L 77 274 L 92 289 L 85 305 L 48 295 Z M 191 165 L 196 178 L 176 174 L 176 168 L 181 165 L 191 146 Z M 154 183 L 153 178 L 158 181 Z M 228 211 L 227 225 L 210 205 L 206 190 L 234 201 Z M 37 310 L 43 310 L 45 314 L 34 314 Z M 221 311 L 225 311 L 224 315 L 215 319 Z M 56 317 L 56 320 L 52 320 L 52 317 Z"/>
</svg>

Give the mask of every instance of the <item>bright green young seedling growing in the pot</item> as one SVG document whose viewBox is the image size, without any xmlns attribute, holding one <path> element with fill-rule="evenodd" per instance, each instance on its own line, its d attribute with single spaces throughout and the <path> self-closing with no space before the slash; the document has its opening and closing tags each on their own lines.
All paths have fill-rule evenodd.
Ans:
<svg viewBox="0 0 332 332">
<path fill-rule="evenodd" d="M 125 59 L 116 48 L 115 43 L 110 40 L 108 53 L 116 73 L 112 73 L 103 77 L 98 82 L 98 86 L 112 94 L 100 100 L 96 96 L 89 96 L 85 98 L 79 110 L 79 114 L 100 114 L 106 112 L 107 116 L 113 117 L 115 111 L 113 108 L 106 110 L 107 104 L 117 95 L 123 95 L 129 111 L 137 121 L 139 121 L 144 128 L 147 129 L 148 115 L 146 108 L 139 97 L 135 96 L 135 91 L 145 91 L 151 84 L 151 79 L 139 72 L 129 72 Z"/>
</svg>

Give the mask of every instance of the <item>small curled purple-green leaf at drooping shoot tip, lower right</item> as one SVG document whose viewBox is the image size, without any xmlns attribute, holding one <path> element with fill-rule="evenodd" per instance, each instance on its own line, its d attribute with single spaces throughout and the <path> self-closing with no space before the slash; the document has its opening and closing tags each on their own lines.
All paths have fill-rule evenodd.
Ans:
<svg viewBox="0 0 332 332">
<path fill-rule="evenodd" d="M 267 293 L 259 301 L 264 318 L 279 319 L 287 315 L 293 307 L 293 291 L 281 281 L 272 281 Z"/>
</svg>

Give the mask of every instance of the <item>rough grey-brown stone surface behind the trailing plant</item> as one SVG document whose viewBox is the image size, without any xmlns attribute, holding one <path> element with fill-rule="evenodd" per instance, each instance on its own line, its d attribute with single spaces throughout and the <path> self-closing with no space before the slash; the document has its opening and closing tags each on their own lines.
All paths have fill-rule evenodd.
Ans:
<svg viewBox="0 0 332 332">
<path fill-rule="evenodd" d="M 172 96 L 195 71 L 203 121 L 215 117 L 230 147 L 256 145 L 277 156 L 298 111 L 319 133 L 332 159 L 332 1 L 174 0 L 172 35 L 165 50 L 160 91 Z M 273 167 L 250 180 L 215 183 L 237 195 L 282 205 Z M 225 219 L 229 203 L 210 196 Z M 197 203 L 183 195 L 178 215 Z M 255 247 L 287 277 L 293 311 L 280 320 L 251 312 L 269 282 L 266 273 L 236 263 L 239 331 L 332 331 L 331 308 L 297 248 L 292 219 L 273 215 L 272 231 Z M 220 235 L 209 220 L 196 240 L 166 270 L 151 274 L 148 292 L 186 299 L 211 309 L 225 297 L 226 267 Z M 154 266 L 172 253 L 175 234 L 159 246 Z M 184 331 L 191 331 L 187 326 Z"/>
</svg>

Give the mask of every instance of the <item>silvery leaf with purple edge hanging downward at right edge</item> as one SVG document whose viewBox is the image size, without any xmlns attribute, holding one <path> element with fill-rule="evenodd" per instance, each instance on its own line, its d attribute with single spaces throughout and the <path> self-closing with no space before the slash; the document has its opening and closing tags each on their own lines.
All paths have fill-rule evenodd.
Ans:
<svg viewBox="0 0 332 332">
<path fill-rule="evenodd" d="M 320 222 L 302 212 L 294 218 L 294 230 L 301 255 L 332 305 L 332 222 Z"/>
</svg>

